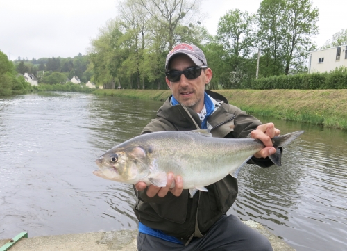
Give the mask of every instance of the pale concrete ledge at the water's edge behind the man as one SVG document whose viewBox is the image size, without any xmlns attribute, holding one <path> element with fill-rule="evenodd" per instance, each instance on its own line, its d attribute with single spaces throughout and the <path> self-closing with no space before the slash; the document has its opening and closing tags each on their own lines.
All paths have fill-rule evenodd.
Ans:
<svg viewBox="0 0 347 251">
<path fill-rule="evenodd" d="M 269 229 L 253 220 L 244 222 L 269 239 L 274 251 L 295 251 Z M 30 233 L 29 237 L 30 237 Z M 0 240 L 0 248 L 10 240 Z M 137 251 L 137 230 L 120 230 L 84 234 L 63 234 L 22 238 L 9 251 Z"/>
</svg>

